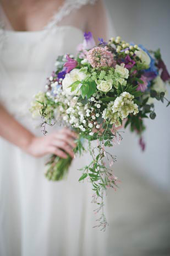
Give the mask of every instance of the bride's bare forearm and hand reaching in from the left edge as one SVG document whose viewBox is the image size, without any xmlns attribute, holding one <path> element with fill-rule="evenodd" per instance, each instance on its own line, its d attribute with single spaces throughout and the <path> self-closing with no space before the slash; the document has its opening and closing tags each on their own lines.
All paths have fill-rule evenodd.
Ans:
<svg viewBox="0 0 170 256">
<path fill-rule="evenodd" d="M 0 136 L 35 157 L 53 153 L 66 158 L 67 154 L 62 150 L 74 157 L 72 150 L 75 147 L 76 134 L 74 132 L 69 129 L 62 129 L 47 136 L 36 137 L 23 125 L 19 124 L 1 104 Z"/>
</svg>

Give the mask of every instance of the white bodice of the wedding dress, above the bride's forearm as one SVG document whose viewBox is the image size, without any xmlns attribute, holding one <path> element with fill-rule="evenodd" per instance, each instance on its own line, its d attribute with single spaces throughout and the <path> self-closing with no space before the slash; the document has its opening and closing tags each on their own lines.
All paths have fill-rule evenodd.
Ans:
<svg viewBox="0 0 170 256">
<path fill-rule="evenodd" d="M 6 23 L 0 29 L 0 101 L 16 118 L 30 116 L 32 96 L 45 88 L 57 56 L 75 54 L 85 29 L 85 20 L 79 17 L 81 7 L 88 2 L 95 1 L 65 1 L 41 31 L 14 31 L 3 13 L 1 22 L 6 19 Z"/>
</svg>

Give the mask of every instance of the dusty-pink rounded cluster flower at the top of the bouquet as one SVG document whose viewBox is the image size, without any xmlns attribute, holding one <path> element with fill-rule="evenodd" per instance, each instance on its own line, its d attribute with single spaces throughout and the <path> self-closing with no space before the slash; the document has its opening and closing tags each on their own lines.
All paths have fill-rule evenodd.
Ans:
<svg viewBox="0 0 170 256">
<path fill-rule="evenodd" d="M 107 46 L 104 48 L 94 47 L 89 52 L 87 52 L 86 58 L 92 67 L 111 67 L 116 63 L 112 52 L 108 51 Z"/>
</svg>

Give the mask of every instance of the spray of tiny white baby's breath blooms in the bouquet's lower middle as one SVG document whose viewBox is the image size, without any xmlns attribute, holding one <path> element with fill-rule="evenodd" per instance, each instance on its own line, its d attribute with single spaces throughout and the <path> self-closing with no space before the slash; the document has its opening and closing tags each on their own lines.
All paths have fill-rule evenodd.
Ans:
<svg viewBox="0 0 170 256">
<path fill-rule="evenodd" d="M 100 125 L 97 124 L 96 119 L 100 116 L 100 108 L 102 103 L 96 94 L 89 99 L 86 104 L 78 102 L 78 96 L 68 95 L 62 90 L 56 95 L 55 119 L 64 120 L 64 123 L 68 126 L 79 128 L 80 132 L 86 132 L 89 135 L 94 135 L 92 130 L 94 128 L 99 129 Z"/>
</svg>

